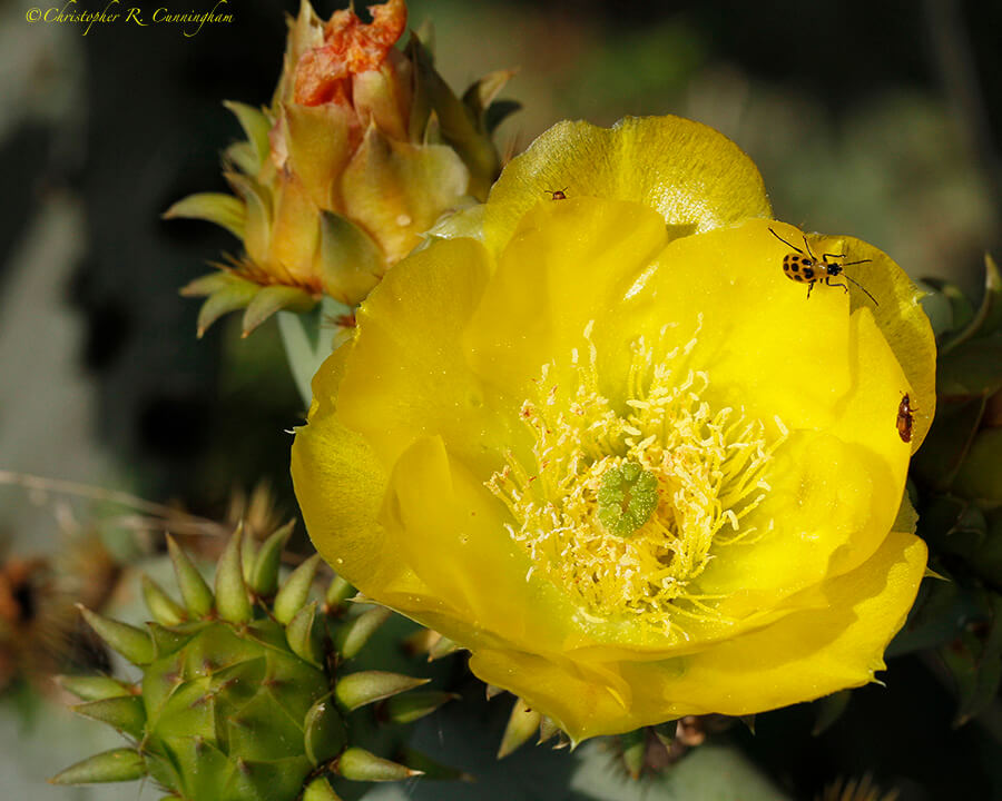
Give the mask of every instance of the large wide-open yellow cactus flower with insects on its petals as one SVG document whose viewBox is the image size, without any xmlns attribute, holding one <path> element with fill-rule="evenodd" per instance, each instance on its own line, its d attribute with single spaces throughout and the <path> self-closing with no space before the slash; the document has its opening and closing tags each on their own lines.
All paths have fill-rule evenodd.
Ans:
<svg viewBox="0 0 1002 801">
<path fill-rule="evenodd" d="M 872 681 L 925 570 L 933 335 L 887 256 L 770 214 L 698 123 L 544 134 L 314 378 L 318 551 L 576 741 Z M 847 266 L 808 298 L 795 249 Z"/>
</svg>

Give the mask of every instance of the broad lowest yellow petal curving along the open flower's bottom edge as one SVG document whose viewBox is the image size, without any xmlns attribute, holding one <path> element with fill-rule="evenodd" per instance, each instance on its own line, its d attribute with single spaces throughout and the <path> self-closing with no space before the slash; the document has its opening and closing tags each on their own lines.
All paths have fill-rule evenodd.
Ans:
<svg viewBox="0 0 1002 801">
<path fill-rule="evenodd" d="M 573 740 L 686 714 L 753 714 L 872 681 L 904 624 L 925 557 L 921 540 L 892 534 L 871 561 L 826 584 L 825 609 L 688 656 L 591 663 L 482 650 L 470 669 L 546 711 Z"/>
</svg>

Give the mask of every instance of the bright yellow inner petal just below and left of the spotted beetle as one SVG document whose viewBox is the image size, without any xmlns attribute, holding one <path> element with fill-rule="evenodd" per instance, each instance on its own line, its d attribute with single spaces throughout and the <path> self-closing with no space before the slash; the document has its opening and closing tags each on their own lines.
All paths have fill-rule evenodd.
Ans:
<svg viewBox="0 0 1002 801">
<path fill-rule="evenodd" d="M 672 241 L 617 314 L 597 323 L 596 342 L 625 349 L 668 325 L 667 345 L 696 339 L 690 364 L 707 372 L 719 407 L 778 416 L 790 429 L 829 425 L 852 387 L 848 300 L 825 286 L 808 299 L 805 285 L 784 276 L 786 248 L 770 227 L 784 230 L 747 220 Z M 617 367 L 609 382 L 625 384 Z"/>
</svg>

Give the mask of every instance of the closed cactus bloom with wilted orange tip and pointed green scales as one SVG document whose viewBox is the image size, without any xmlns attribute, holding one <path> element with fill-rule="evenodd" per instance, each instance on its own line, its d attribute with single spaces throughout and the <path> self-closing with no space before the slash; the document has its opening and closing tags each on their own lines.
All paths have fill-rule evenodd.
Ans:
<svg viewBox="0 0 1002 801">
<path fill-rule="evenodd" d="M 268 108 L 227 103 L 247 141 L 226 152 L 236 197 L 205 192 L 166 217 L 226 227 L 244 254 L 183 294 L 207 296 L 199 334 L 246 308 L 245 335 L 279 309 L 328 296 L 357 304 L 444 212 L 483 199 L 500 159 L 491 132 L 514 103 L 491 109 L 510 71 L 460 100 L 406 28 L 404 0 L 323 22 L 307 0 L 289 20 L 285 63 Z"/>
</svg>

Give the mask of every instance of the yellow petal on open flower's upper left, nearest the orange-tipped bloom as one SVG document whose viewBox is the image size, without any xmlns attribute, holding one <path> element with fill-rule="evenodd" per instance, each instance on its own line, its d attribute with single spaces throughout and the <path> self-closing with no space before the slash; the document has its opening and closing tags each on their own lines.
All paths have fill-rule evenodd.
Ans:
<svg viewBox="0 0 1002 801">
<path fill-rule="evenodd" d="M 473 462 L 490 452 L 494 465 L 503 454 L 503 445 L 491 447 L 498 426 L 487 421 L 504 415 L 492 412 L 493 394 L 460 345 L 488 273 L 479 243 L 441 241 L 390 270 L 358 309 L 338 412 L 384 464 L 419 437 L 436 434 Z"/>
</svg>

